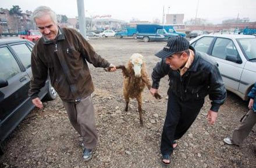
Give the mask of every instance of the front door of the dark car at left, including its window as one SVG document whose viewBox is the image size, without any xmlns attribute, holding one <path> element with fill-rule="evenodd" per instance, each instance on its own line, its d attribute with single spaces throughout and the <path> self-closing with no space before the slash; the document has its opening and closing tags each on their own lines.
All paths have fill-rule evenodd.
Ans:
<svg viewBox="0 0 256 168">
<path fill-rule="evenodd" d="M 0 46 L 0 78 L 8 81 L 8 86 L 0 88 L 0 126 L 15 114 L 24 102 L 29 99 L 28 90 L 30 78 L 19 59 L 9 46 Z M 9 130 L 6 128 L 5 130 Z M 1 130 L 2 138 L 5 130 Z M 3 132 L 2 132 L 3 131 Z"/>
</svg>

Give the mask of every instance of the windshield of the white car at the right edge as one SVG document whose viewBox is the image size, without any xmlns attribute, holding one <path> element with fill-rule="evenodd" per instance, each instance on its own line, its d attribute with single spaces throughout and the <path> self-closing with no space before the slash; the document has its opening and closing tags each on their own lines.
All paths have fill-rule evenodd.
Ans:
<svg viewBox="0 0 256 168">
<path fill-rule="evenodd" d="M 248 60 L 256 60 L 256 38 L 236 39 Z"/>
</svg>

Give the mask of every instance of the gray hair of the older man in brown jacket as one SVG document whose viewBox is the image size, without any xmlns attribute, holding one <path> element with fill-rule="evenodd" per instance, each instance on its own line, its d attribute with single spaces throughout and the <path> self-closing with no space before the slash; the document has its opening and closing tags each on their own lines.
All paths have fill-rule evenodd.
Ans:
<svg viewBox="0 0 256 168">
<path fill-rule="evenodd" d="M 39 6 L 37 7 L 34 12 L 32 13 L 32 19 L 35 22 L 35 19 L 41 18 L 43 17 L 45 14 L 49 14 L 49 16 L 51 16 L 52 21 L 57 24 L 58 20 L 57 20 L 57 15 L 54 12 L 54 10 L 52 10 L 51 8 L 49 8 L 48 6 Z"/>
</svg>

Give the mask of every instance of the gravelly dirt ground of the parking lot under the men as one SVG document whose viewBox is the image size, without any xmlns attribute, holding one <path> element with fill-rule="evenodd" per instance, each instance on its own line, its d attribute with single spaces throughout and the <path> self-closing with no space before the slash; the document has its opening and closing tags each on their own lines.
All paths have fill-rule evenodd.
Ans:
<svg viewBox="0 0 256 168">
<path fill-rule="evenodd" d="M 165 42 L 136 41 L 132 38 L 96 38 L 90 43 L 102 57 L 116 65 L 127 64 L 131 54 L 143 54 L 148 74 L 158 59 L 154 54 Z M 138 120 L 137 102 L 131 101 L 125 112 L 122 97 L 122 74 L 105 72 L 90 66 L 95 85 L 93 94 L 99 141 L 93 159 L 84 162 L 81 137 L 70 125 L 61 100 L 44 103 L 34 109 L 3 143 L 5 154 L 0 167 L 256 167 L 255 128 L 242 147 L 225 145 L 247 112 L 247 103 L 232 93 L 222 105 L 218 120 L 209 126 L 206 115 L 208 98 L 189 131 L 177 141 L 172 162 L 161 162 L 159 143 L 166 115 L 168 78 L 163 78 L 155 100 L 144 90 L 144 127 Z"/>
</svg>

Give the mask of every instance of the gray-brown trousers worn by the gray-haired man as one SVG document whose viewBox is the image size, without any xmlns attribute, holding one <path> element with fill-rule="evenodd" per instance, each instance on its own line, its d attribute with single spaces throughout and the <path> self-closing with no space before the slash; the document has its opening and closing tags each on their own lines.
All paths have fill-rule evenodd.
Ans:
<svg viewBox="0 0 256 168">
<path fill-rule="evenodd" d="M 98 141 L 95 126 L 94 107 L 91 96 L 81 99 L 78 104 L 63 101 L 69 120 L 76 131 L 83 137 L 85 148 L 93 149 Z"/>
</svg>

